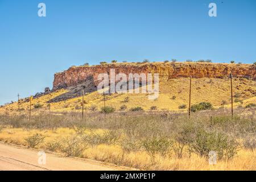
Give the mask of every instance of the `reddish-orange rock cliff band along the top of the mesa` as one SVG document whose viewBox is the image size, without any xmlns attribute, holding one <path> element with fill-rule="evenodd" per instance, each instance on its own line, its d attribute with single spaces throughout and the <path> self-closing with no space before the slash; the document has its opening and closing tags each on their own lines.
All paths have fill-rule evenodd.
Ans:
<svg viewBox="0 0 256 182">
<path fill-rule="evenodd" d="M 230 73 L 234 77 L 251 78 L 256 80 L 256 66 L 252 64 L 225 64 L 225 63 L 115 63 L 95 66 L 71 67 L 68 70 L 56 73 L 53 81 L 53 90 L 75 86 L 93 79 L 95 85 L 98 83 L 100 73 L 110 73 L 115 69 L 115 74 L 125 73 L 159 73 L 159 80 L 179 77 L 194 78 L 223 78 Z"/>
</svg>

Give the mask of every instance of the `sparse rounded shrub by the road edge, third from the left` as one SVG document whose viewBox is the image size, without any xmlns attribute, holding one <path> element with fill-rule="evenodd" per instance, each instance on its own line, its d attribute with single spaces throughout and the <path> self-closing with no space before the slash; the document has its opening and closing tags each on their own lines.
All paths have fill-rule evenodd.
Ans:
<svg viewBox="0 0 256 182">
<path fill-rule="evenodd" d="M 86 148 L 87 144 L 82 142 L 77 136 L 67 137 L 61 140 L 61 151 L 64 152 L 66 156 L 81 157 Z"/>
</svg>

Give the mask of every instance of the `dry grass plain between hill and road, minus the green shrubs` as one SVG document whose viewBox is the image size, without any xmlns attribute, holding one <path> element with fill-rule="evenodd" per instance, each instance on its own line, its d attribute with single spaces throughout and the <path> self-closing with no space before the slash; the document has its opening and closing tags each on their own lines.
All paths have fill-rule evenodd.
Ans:
<svg viewBox="0 0 256 182">
<path fill-rule="evenodd" d="M 255 110 L 235 110 L 235 112 L 239 115 L 231 118 L 226 115 L 225 109 L 203 111 L 193 113 L 190 121 L 184 114 L 171 113 L 122 113 L 121 115 L 114 113 L 107 115 L 106 121 L 102 119 L 102 115 L 92 114 L 88 115 L 86 122 L 81 121 L 80 114 L 77 113 L 34 115 L 30 122 L 24 117 L 0 115 L 2 126 L 0 140 L 28 146 L 25 138 L 39 134 L 46 138 L 36 148 L 47 150 L 49 143 L 61 144 L 64 138 L 71 139 L 72 143 L 72 138 L 75 136 L 75 142 L 82 142 L 86 146 L 84 150 L 80 150 L 82 154 L 79 156 L 122 166 L 149 170 L 255 170 L 255 150 L 246 150 L 243 147 L 243 140 L 256 137 L 255 114 L 253 114 Z M 17 125 L 16 122 L 20 123 Z M 187 130 L 191 127 L 193 130 L 224 133 L 226 137 L 236 139 L 240 145 L 237 154 L 229 160 L 218 160 L 214 166 L 209 165 L 207 158 L 195 152 L 188 152 L 188 140 L 184 140 L 184 137 L 187 139 L 195 137 L 196 131 Z M 192 133 L 184 133 L 184 131 L 192 131 Z M 167 151 L 167 155 L 161 155 L 162 149 L 158 146 L 155 148 L 153 159 L 150 152 L 140 144 L 144 140 L 159 137 L 170 141 L 179 137 L 176 142 L 185 141 L 181 158 L 178 158 L 171 148 Z M 126 148 L 123 147 L 124 145 Z M 154 143 L 152 147 L 155 147 Z M 203 147 L 207 148 L 207 143 Z M 126 150 L 127 148 L 130 150 Z M 52 150 L 65 151 L 59 146 Z"/>
</svg>

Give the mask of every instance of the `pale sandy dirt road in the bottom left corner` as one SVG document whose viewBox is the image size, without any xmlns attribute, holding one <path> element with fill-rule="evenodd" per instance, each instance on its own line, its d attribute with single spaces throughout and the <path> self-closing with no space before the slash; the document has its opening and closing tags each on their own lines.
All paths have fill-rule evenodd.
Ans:
<svg viewBox="0 0 256 182">
<path fill-rule="evenodd" d="M 94 160 L 64 158 L 55 154 L 46 153 L 46 158 L 43 158 L 43 153 L 38 155 L 38 152 L 39 151 L 30 150 L 28 148 L 0 143 L 0 170 L 112 171 L 118 169 L 117 167 L 110 165 L 106 166 L 105 164 Z"/>
</svg>

